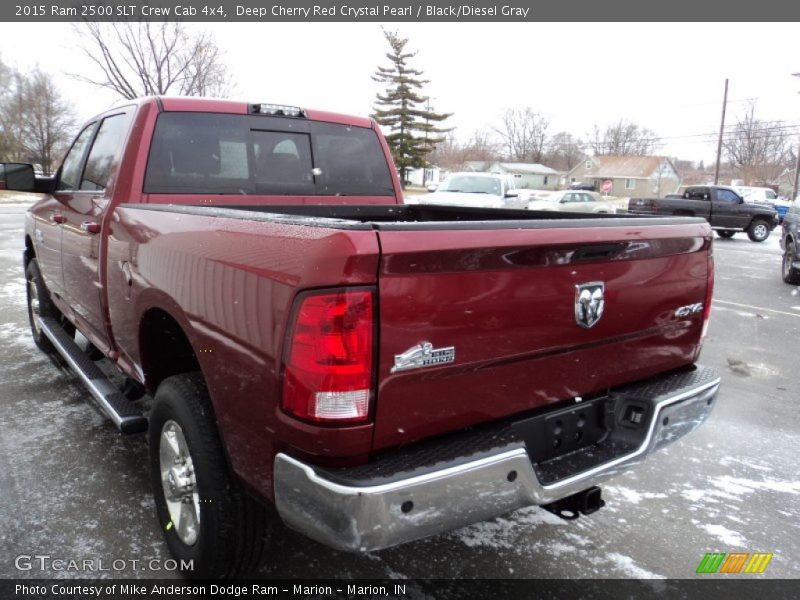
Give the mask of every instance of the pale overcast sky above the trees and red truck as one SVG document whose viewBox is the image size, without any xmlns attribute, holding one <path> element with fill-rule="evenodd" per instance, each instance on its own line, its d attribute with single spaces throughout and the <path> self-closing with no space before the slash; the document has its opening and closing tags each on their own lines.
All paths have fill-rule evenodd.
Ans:
<svg viewBox="0 0 800 600">
<path fill-rule="evenodd" d="M 233 75 L 233 97 L 369 114 L 387 61 L 374 23 L 211 23 Z M 595 123 L 626 118 L 664 139 L 661 153 L 713 161 L 725 78 L 728 123 L 746 101 L 756 115 L 800 131 L 800 24 L 394 23 L 430 79 L 434 108 L 453 112 L 464 139 L 530 106 L 550 133 L 585 137 Z M 91 68 L 70 24 L 0 23 L 0 57 L 53 74 L 83 118 L 115 101 L 70 79 Z M 711 135 L 703 135 L 711 134 Z"/>
</svg>

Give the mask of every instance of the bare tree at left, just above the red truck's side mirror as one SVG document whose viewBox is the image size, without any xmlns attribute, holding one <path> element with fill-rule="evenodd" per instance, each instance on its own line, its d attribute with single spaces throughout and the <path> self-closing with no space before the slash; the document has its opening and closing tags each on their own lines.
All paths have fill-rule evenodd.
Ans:
<svg viewBox="0 0 800 600">
<path fill-rule="evenodd" d="M 26 158 L 52 173 L 72 139 L 75 115 L 52 79 L 38 69 L 21 81 L 25 100 L 21 119 L 21 146 Z"/>
</svg>

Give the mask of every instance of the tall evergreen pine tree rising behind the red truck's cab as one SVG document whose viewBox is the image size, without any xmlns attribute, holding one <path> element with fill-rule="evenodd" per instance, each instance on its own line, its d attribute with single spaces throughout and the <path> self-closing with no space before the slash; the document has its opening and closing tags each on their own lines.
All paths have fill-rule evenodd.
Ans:
<svg viewBox="0 0 800 600">
<path fill-rule="evenodd" d="M 390 65 L 379 66 L 372 76 L 387 84 L 386 91 L 376 96 L 372 117 L 389 131 L 386 141 L 405 187 L 408 171 L 426 167 L 428 155 L 444 140 L 440 134 L 450 131 L 437 124 L 452 113 L 433 112 L 429 98 L 420 93 L 428 80 L 421 79 L 422 71 L 408 66 L 407 61 L 416 56 L 416 52 L 405 51 L 408 38 L 387 30 L 383 34 L 391 47 L 386 53 Z"/>
</svg>

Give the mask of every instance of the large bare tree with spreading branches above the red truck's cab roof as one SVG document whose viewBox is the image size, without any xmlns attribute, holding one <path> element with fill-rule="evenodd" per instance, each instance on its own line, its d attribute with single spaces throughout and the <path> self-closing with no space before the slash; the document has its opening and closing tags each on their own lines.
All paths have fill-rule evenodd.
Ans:
<svg viewBox="0 0 800 600">
<path fill-rule="evenodd" d="M 84 54 L 97 75 L 75 75 L 126 99 L 177 94 L 218 96 L 230 93 L 222 52 L 206 32 L 190 32 L 183 23 L 88 22 L 76 25 Z"/>
</svg>

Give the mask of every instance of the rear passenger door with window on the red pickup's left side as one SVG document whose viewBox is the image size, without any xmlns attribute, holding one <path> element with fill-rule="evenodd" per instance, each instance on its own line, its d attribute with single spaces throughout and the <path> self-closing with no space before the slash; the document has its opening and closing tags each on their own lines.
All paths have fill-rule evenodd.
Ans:
<svg viewBox="0 0 800 600">
<path fill-rule="evenodd" d="M 63 206 L 61 261 L 67 301 L 77 324 L 102 350 L 108 349 L 109 333 L 98 270 L 104 237 L 103 217 L 111 202 L 131 109 L 121 109 L 100 121 L 75 189 L 62 189 L 56 196 Z M 63 182 L 62 182 L 63 183 Z"/>
</svg>

